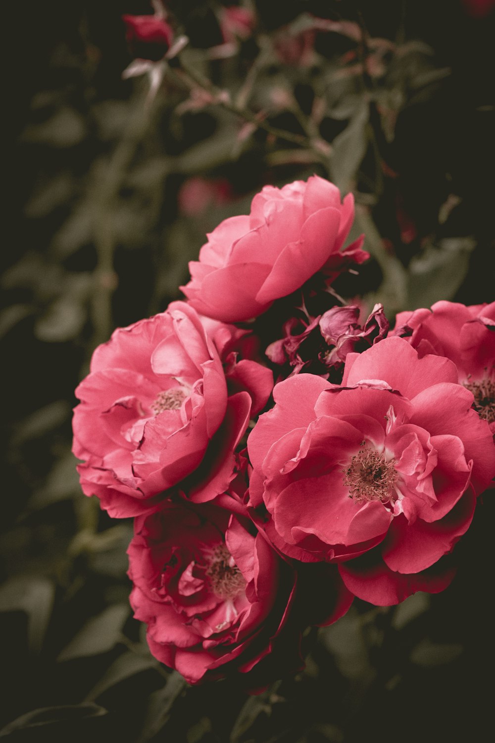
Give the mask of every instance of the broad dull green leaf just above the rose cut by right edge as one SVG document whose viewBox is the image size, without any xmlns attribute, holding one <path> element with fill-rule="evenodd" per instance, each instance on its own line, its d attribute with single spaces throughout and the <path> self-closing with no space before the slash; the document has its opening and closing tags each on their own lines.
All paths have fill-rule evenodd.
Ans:
<svg viewBox="0 0 495 743">
<path fill-rule="evenodd" d="M 452 299 L 468 273 L 475 246 L 471 237 L 449 238 L 430 244 L 409 265 L 408 308 L 430 307 L 439 299 Z"/>
</svg>

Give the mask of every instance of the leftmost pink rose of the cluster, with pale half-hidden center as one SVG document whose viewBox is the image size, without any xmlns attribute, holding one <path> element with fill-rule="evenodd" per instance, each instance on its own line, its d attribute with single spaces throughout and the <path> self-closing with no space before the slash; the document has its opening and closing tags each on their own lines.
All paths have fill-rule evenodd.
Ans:
<svg viewBox="0 0 495 743">
<path fill-rule="evenodd" d="M 94 351 L 76 389 L 73 452 L 85 460 L 82 490 L 111 516 L 154 510 L 171 487 L 207 501 L 234 477 L 235 447 L 272 373 L 237 362 L 237 328 L 216 323 L 212 332 L 217 340 L 186 302 L 172 302 Z"/>
</svg>

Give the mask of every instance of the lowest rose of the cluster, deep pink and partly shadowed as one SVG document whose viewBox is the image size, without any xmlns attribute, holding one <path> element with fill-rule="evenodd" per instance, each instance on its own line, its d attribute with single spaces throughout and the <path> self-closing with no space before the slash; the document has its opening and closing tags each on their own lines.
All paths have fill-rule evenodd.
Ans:
<svg viewBox="0 0 495 743">
<path fill-rule="evenodd" d="M 245 516 L 165 502 L 135 520 L 128 555 L 134 617 L 190 684 L 246 674 L 259 687 L 304 665 L 295 574 Z"/>
</svg>

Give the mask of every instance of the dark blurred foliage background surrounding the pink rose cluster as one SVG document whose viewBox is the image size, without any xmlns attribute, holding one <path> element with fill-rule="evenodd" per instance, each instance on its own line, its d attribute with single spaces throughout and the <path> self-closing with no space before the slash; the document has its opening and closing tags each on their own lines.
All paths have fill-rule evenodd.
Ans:
<svg viewBox="0 0 495 743">
<path fill-rule="evenodd" d="M 484 740 L 489 495 L 444 594 L 393 612 L 356 600 L 305 638 L 306 671 L 260 697 L 189 688 L 131 618 L 131 523 L 82 496 L 71 409 L 96 345 L 180 298 L 206 233 L 264 184 L 317 173 L 354 192 L 351 237 L 372 259 L 338 291 L 364 317 L 493 301 L 495 3 L 174 0 L 189 44 L 140 69 L 121 16 L 152 13 L 145 0 L 9 6 L 0 736 Z"/>
</svg>

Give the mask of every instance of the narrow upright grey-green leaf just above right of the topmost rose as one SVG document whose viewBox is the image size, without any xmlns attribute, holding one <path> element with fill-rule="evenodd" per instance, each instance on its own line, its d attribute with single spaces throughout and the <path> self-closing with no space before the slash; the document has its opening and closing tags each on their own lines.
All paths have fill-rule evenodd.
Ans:
<svg viewBox="0 0 495 743">
<path fill-rule="evenodd" d="M 367 150 L 367 123 L 370 110 L 365 100 L 360 101 L 349 125 L 332 141 L 332 181 L 341 191 L 350 191 L 356 173 Z"/>
</svg>

